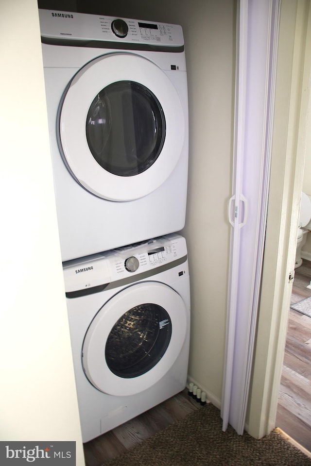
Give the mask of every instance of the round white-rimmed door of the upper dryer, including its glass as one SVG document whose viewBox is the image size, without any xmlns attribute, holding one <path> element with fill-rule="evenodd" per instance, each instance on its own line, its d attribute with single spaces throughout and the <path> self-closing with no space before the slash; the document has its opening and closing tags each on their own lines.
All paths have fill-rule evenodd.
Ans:
<svg viewBox="0 0 311 466">
<path fill-rule="evenodd" d="M 78 183 L 96 196 L 135 200 L 170 176 L 185 118 L 178 93 L 154 63 L 132 53 L 81 68 L 59 110 L 59 146 Z"/>
</svg>

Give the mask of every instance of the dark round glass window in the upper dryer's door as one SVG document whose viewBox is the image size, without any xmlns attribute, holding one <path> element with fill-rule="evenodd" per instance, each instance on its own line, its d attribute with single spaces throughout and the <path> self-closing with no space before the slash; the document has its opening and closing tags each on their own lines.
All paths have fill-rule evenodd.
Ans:
<svg viewBox="0 0 311 466">
<path fill-rule="evenodd" d="M 155 95 L 133 81 L 102 89 L 86 117 L 86 139 L 96 162 L 107 172 L 134 176 L 152 166 L 166 133 L 163 109 Z"/>
</svg>

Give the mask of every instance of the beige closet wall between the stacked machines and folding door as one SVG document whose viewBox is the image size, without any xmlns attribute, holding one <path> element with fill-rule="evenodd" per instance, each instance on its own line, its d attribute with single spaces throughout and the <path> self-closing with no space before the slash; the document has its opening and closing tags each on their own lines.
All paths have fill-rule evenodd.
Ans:
<svg viewBox="0 0 311 466">
<path fill-rule="evenodd" d="M 202 2 L 201 9 L 194 9 L 190 18 L 184 18 L 191 37 L 187 44 L 190 173 L 184 230 L 191 272 L 189 375 L 220 406 L 229 268 L 234 2 Z"/>
</svg>

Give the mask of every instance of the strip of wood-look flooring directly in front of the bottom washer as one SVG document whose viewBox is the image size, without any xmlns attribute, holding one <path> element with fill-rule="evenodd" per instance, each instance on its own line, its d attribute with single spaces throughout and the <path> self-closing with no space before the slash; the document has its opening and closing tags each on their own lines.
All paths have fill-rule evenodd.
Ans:
<svg viewBox="0 0 311 466">
<path fill-rule="evenodd" d="M 121 455 L 200 407 L 200 403 L 190 398 L 185 389 L 140 416 L 84 444 L 86 466 L 104 465 L 105 461 Z"/>
</svg>

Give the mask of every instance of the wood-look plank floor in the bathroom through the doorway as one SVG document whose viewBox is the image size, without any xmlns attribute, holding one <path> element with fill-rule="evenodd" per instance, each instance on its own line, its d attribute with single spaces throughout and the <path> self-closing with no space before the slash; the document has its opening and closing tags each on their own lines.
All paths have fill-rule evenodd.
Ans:
<svg viewBox="0 0 311 466">
<path fill-rule="evenodd" d="M 295 270 L 291 304 L 311 296 L 311 262 Z M 311 317 L 290 309 L 276 426 L 311 451 Z"/>
</svg>

